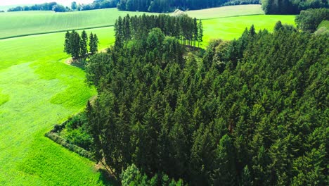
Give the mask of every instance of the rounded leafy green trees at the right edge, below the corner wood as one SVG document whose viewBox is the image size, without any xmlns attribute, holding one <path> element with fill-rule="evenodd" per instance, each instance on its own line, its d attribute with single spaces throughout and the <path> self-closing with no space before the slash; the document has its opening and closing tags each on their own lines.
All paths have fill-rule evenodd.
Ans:
<svg viewBox="0 0 329 186">
<path fill-rule="evenodd" d="M 329 20 L 328 8 L 301 11 L 300 14 L 296 16 L 295 21 L 300 30 L 304 32 L 315 32 L 318 25 L 320 25 L 323 20 Z"/>
</svg>

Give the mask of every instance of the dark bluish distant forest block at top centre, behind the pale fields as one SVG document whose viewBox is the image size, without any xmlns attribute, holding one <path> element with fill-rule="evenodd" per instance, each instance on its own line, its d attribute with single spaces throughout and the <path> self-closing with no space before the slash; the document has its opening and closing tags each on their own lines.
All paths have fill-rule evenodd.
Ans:
<svg viewBox="0 0 329 186">
<path fill-rule="evenodd" d="M 195 10 L 232 4 L 259 4 L 258 0 L 120 0 L 117 8 L 121 11 L 170 12 L 175 9 Z"/>
</svg>

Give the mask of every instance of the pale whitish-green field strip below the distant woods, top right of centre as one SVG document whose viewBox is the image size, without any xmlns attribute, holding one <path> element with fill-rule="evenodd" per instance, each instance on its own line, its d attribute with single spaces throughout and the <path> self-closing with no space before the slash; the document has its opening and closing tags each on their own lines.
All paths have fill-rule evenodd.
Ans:
<svg viewBox="0 0 329 186">
<path fill-rule="evenodd" d="M 188 11 L 188 16 L 198 19 L 226 18 L 236 16 L 248 16 L 264 14 L 262 6 L 259 4 L 222 6 L 219 8 L 209 8 L 198 11 Z"/>
</svg>

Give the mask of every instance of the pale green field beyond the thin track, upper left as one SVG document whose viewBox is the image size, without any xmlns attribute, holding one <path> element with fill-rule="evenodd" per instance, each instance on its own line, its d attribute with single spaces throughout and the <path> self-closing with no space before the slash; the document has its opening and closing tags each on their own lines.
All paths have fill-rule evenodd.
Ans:
<svg viewBox="0 0 329 186">
<path fill-rule="evenodd" d="M 119 16 L 142 15 L 138 12 L 118 11 L 117 8 L 96 11 L 55 13 L 53 11 L 26 11 L 1 13 L 0 39 L 34 35 L 63 30 L 106 27 L 115 24 Z"/>
</svg>

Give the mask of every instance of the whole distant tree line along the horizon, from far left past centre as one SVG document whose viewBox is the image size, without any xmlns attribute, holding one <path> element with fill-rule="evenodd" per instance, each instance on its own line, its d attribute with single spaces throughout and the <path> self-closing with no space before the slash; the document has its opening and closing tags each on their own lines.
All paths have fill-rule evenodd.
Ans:
<svg viewBox="0 0 329 186">
<path fill-rule="evenodd" d="M 238 4 L 259 4 L 259 0 L 95 0 L 91 4 L 77 4 L 73 1 L 71 7 L 56 2 L 34 4 L 33 6 L 17 6 L 8 11 L 89 11 L 102 8 L 118 8 L 120 11 L 171 12 L 175 9 L 195 10 L 218 6 Z"/>
</svg>

